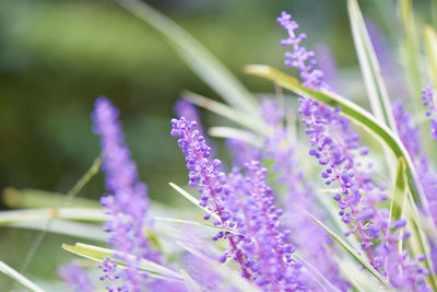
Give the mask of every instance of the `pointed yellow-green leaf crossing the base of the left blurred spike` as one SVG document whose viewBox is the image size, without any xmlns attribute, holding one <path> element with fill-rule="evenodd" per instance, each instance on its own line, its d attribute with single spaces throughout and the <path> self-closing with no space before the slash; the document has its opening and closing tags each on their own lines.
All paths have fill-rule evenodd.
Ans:
<svg viewBox="0 0 437 292">
<path fill-rule="evenodd" d="M 74 246 L 62 244 L 62 248 L 66 249 L 67 252 L 70 252 L 72 254 L 75 254 L 81 257 L 88 258 L 91 260 L 95 260 L 98 262 L 103 262 L 106 257 L 111 257 L 114 258 L 114 255 L 116 254 L 116 250 L 114 249 L 108 249 L 99 246 L 94 246 L 94 245 L 88 245 L 88 244 L 82 244 L 82 243 L 76 243 Z M 137 261 L 137 258 L 132 255 L 128 255 L 128 258 L 132 262 Z M 114 258 L 114 260 L 119 265 L 120 267 L 126 268 L 126 262 L 122 260 L 118 259 L 117 257 Z M 156 262 L 146 260 L 146 259 L 140 259 L 140 262 L 138 264 L 138 269 L 140 271 L 145 271 L 150 277 L 153 278 L 158 278 L 158 279 L 165 279 L 169 281 L 181 281 L 182 277 L 164 267 L 161 266 Z"/>
</svg>

